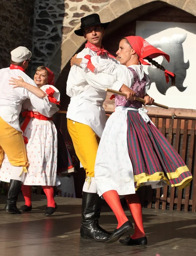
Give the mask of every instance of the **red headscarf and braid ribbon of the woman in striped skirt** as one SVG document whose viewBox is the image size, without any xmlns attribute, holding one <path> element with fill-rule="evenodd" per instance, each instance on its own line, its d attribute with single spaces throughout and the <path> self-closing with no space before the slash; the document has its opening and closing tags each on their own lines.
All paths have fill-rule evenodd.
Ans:
<svg viewBox="0 0 196 256">
<path fill-rule="evenodd" d="M 156 47 L 153 47 L 141 36 L 127 36 L 125 38 L 128 40 L 131 47 L 135 50 L 141 64 L 151 65 L 148 62 L 146 62 L 144 59 L 146 57 L 156 58 L 158 56 L 163 56 L 168 62 L 170 62 L 170 56 L 167 53 L 162 52 Z M 172 72 L 165 70 L 165 78 L 167 83 L 169 82 L 168 74 L 173 77 L 175 76 Z"/>
</svg>

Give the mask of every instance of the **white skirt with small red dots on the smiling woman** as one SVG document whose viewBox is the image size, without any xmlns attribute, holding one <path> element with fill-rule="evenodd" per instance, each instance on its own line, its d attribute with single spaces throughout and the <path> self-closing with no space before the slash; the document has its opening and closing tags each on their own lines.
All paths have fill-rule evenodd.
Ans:
<svg viewBox="0 0 196 256">
<path fill-rule="evenodd" d="M 11 166 L 4 157 L 0 168 L 0 180 L 21 180 L 24 185 L 56 186 L 57 176 L 57 130 L 54 123 L 31 118 L 23 134 L 28 139 L 27 173 L 21 175 L 22 168 Z"/>
</svg>

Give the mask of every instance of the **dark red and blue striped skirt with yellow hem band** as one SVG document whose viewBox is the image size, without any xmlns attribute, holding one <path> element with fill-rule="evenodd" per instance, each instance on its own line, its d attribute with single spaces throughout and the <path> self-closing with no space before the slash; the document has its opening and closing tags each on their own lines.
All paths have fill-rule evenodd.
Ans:
<svg viewBox="0 0 196 256">
<path fill-rule="evenodd" d="M 193 177 L 185 162 L 152 123 L 146 123 L 138 112 L 128 110 L 127 124 L 136 190 L 159 180 L 178 189 L 190 185 Z"/>
</svg>

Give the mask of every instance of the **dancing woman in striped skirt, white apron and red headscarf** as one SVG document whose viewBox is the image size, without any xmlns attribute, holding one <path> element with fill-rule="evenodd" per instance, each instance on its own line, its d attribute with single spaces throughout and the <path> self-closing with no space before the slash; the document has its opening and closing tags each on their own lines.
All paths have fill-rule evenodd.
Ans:
<svg viewBox="0 0 196 256">
<path fill-rule="evenodd" d="M 119 195 L 122 195 L 134 218 L 135 233 L 120 242 L 146 245 L 142 207 L 135 190 L 144 185 L 157 188 L 165 184 L 183 189 L 190 185 L 192 175 L 179 154 L 151 122 L 142 103 L 133 101 L 137 96 L 145 99 L 145 105 L 154 102 L 147 94 L 150 81 L 141 64 L 150 65 L 148 62 L 151 62 L 165 72 L 167 82 L 170 77 L 172 85 L 175 84 L 175 75 L 153 61 L 160 55 L 169 61 L 169 55 L 139 36 L 123 38 L 116 54 L 122 65 L 99 62 L 97 56 L 88 61 L 83 58 L 81 64 L 78 58 L 73 58 L 71 62 L 80 64 L 86 72 L 90 69 L 117 76 L 119 81 L 134 91 L 132 101 L 124 96 L 115 96 L 115 112 L 106 123 L 97 151 L 95 181 L 99 196 L 103 196 L 118 221 L 117 228 L 106 242 L 117 241 L 133 227 L 122 209 L 119 199 Z"/>
</svg>

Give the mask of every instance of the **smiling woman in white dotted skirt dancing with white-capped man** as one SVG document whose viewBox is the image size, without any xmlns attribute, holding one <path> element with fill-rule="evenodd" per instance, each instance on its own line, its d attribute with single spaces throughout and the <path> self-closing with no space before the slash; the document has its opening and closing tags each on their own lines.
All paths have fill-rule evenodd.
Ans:
<svg viewBox="0 0 196 256">
<path fill-rule="evenodd" d="M 29 84 L 20 79 L 10 80 L 10 84 L 14 84 L 14 87 L 29 87 Z M 45 92 L 45 96 L 48 96 L 48 104 L 51 105 L 51 116 L 56 113 L 59 108 L 57 105 L 60 103 L 60 92 L 54 87 L 54 73 L 47 67 L 38 67 L 34 75 L 34 82 Z M 31 206 L 31 185 L 40 185 L 45 192 L 48 200 L 48 206 L 45 211 L 45 216 L 52 215 L 57 209 L 57 204 L 54 201 L 54 186 L 56 186 L 57 176 L 57 148 L 62 146 L 62 135 L 59 129 L 52 121 L 52 117 L 48 118 L 41 115 L 34 109 L 29 100 L 23 103 L 23 116 L 26 116 L 25 121 L 21 126 L 23 131 L 23 137 L 26 143 L 26 151 L 28 157 L 28 172 L 23 180 L 22 192 L 25 198 L 25 205 L 20 210 L 22 212 L 29 212 L 32 209 Z M 60 140 L 58 141 L 58 137 Z M 66 147 L 64 143 L 64 147 Z M 60 150 L 62 152 L 62 148 Z M 67 152 L 66 152 L 67 151 Z M 67 150 L 63 150 L 63 153 L 68 154 L 67 162 L 64 161 L 64 170 L 73 168 L 71 163 L 71 157 Z M 60 154 L 61 154 L 60 152 Z M 11 165 L 9 161 L 4 159 L 0 169 L 0 180 L 9 182 L 11 179 Z M 62 159 L 62 157 L 61 157 Z M 59 157 L 58 157 L 59 160 Z M 61 163 L 61 169 L 62 169 Z"/>
</svg>

